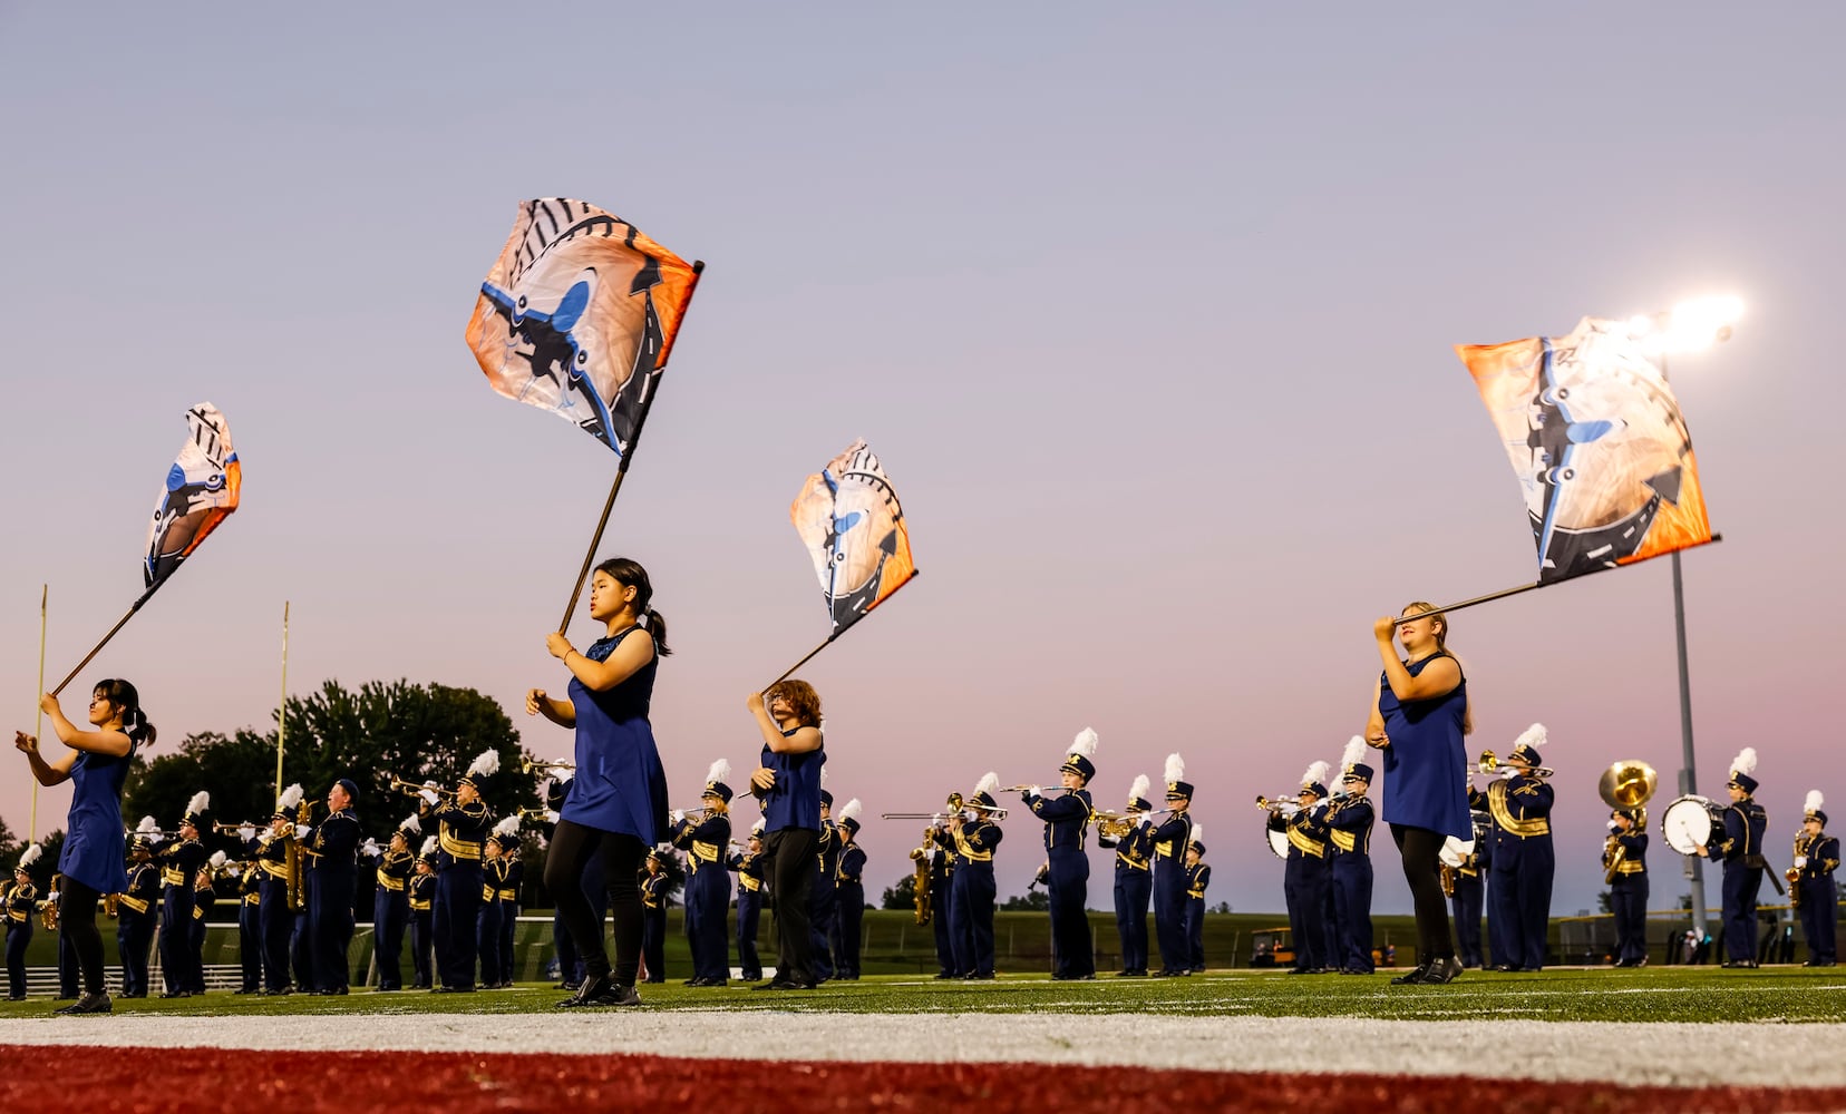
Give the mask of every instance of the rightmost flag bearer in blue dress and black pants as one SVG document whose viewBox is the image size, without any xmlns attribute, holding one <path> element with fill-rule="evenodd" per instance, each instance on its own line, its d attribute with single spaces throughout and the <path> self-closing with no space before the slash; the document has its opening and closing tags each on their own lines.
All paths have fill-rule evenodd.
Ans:
<svg viewBox="0 0 1846 1114">
<path fill-rule="evenodd" d="M 1405 616 L 1432 612 L 1410 603 Z M 1397 657 L 1392 634 L 1403 642 Z M 1403 876 L 1416 907 L 1418 966 L 1392 983 L 1447 983 L 1462 972 L 1442 896 L 1442 845 L 1473 839 L 1468 815 L 1468 751 L 1473 730 L 1468 681 L 1447 651 L 1449 618 L 1381 618 L 1372 625 L 1384 675 L 1366 723 L 1366 743 L 1384 751 L 1384 823 L 1403 852 Z"/>
</svg>

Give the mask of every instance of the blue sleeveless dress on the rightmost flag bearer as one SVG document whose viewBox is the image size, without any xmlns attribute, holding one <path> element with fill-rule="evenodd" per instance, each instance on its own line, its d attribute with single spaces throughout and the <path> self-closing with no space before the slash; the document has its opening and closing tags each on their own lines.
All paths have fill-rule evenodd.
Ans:
<svg viewBox="0 0 1846 1114">
<path fill-rule="evenodd" d="M 1405 668 L 1410 677 L 1431 655 Z M 1455 690 L 1425 701 L 1399 701 L 1379 671 L 1379 712 L 1384 716 L 1384 823 L 1429 828 L 1456 839 L 1473 839 L 1468 815 L 1468 749 L 1462 717 L 1468 710 L 1468 679 Z"/>
</svg>

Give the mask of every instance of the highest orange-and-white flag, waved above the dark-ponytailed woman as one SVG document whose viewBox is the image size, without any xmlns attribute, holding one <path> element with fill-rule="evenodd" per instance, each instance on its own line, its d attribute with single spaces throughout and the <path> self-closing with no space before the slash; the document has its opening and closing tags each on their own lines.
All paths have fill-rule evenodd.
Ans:
<svg viewBox="0 0 1846 1114">
<path fill-rule="evenodd" d="M 480 284 L 467 345 L 493 389 L 628 456 L 698 266 L 569 197 L 519 207 Z"/>
</svg>

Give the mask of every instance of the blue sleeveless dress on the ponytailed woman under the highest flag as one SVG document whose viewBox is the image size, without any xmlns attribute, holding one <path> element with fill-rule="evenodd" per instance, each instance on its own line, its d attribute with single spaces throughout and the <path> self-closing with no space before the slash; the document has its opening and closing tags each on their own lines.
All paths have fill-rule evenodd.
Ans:
<svg viewBox="0 0 1846 1114">
<path fill-rule="evenodd" d="M 583 657 L 604 662 L 624 638 L 650 638 L 641 627 L 628 627 L 613 638 L 598 638 Z M 576 708 L 576 778 L 561 819 L 598 832 L 633 836 L 653 847 L 666 841 L 666 771 L 653 745 L 648 703 L 653 697 L 655 657 L 633 677 L 607 692 L 591 692 L 570 679 L 570 705 Z"/>
</svg>

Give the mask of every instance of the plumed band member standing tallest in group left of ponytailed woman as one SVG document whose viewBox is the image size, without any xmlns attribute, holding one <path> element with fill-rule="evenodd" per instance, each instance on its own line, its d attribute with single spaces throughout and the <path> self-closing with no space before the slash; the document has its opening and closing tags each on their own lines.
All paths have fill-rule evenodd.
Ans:
<svg viewBox="0 0 1846 1114">
<path fill-rule="evenodd" d="M 436 828 L 436 994 L 474 990 L 476 931 L 480 920 L 480 859 L 487 845 L 493 815 L 480 799 L 480 784 L 500 771 L 500 754 L 482 751 L 469 764 L 454 797 L 443 799 L 425 788 L 419 812 Z"/>
</svg>

